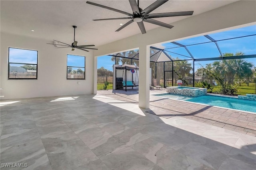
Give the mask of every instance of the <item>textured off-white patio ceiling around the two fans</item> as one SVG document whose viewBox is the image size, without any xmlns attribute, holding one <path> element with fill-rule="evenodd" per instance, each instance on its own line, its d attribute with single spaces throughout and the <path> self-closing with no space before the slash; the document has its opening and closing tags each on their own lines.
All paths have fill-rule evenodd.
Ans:
<svg viewBox="0 0 256 170">
<path fill-rule="evenodd" d="M 90 2 L 132 13 L 128 0 L 92 0 Z M 140 8 L 144 9 L 153 2 L 152 0 L 140 0 Z M 194 10 L 194 14 L 192 15 L 194 16 L 233 2 L 235 1 L 169 0 L 150 14 Z M 58 40 L 65 43 L 72 43 L 74 39 L 72 25 L 75 25 L 77 26 L 76 41 L 78 41 L 78 45 L 95 44 L 96 46 L 114 42 L 135 34 L 141 34 L 136 23 L 130 24 L 119 32 L 115 32 L 120 27 L 120 23 L 125 24 L 129 20 L 92 21 L 93 19 L 127 16 L 86 4 L 85 0 L 1 0 L 0 3 L 1 32 L 10 34 L 42 38 L 49 42 Z M 170 24 L 192 16 L 166 17 L 156 20 Z M 146 22 L 144 22 L 144 25 L 146 31 L 159 27 Z M 35 31 L 32 32 L 30 30 Z"/>
</svg>

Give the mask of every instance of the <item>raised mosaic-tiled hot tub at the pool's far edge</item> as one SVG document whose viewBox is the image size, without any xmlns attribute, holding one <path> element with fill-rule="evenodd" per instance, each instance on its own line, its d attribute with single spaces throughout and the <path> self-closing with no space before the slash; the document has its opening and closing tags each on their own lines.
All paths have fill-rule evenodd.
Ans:
<svg viewBox="0 0 256 170">
<path fill-rule="evenodd" d="M 166 87 L 166 92 L 176 95 L 199 97 L 206 95 L 207 89 L 198 87 L 173 86 Z"/>
</svg>

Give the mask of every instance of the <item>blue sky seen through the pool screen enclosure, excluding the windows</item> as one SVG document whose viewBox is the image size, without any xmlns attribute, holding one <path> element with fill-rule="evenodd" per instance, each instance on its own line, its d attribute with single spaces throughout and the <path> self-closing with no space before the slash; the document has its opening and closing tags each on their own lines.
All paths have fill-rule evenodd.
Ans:
<svg viewBox="0 0 256 170">
<path fill-rule="evenodd" d="M 248 36 L 248 35 L 254 35 L 254 34 L 256 34 L 256 25 L 248 26 L 244 28 L 238 28 L 235 30 L 228 30 L 225 32 L 208 34 L 208 35 L 216 41 L 223 40 L 223 41 L 217 42 L 220 47 L 220 51 L 222 53 L 236 53 L 241 51 L 245 55 L 251 55 L 251 54 L 256 54 L 256 36 L 236 38 L 231 40 L 224 40 L 224 39 L 242 37 L 242 36 Z M 214 42 L 211 42 L 208 38 L 204 36 L 179 40 L 176 42 L 181 43 L 183 45 L 209 42 L 209 43 L 204 43 L 199 45 L 187 46 L 187 48 L 190 51 L 190 53 L 192 53 L 194 58 L 209 58 L 209 57 L 220 56 L 220 52 L 218 51 L 216 44 Z M 158 47 L 161 49 L 166 49 L 166 48 L 178 47 L 178 45 L 175 45 L 173 43 L 163 43 L 158 45 Z M 182 56 L 182 55 L 190 56 L 189 53 L 186 51 L 186 49 L 183 47 L 167 49 L 167 51 L 170 51 L 167 53 L 174 58 L 179 57 L 180 59 L 190 59 L 188 57 Z M 182 55 L 178 55 L 175 53 L 179 53 Z M 248 58 L 245 60 L 253 63 L 254 66 L 256 67 L 256 58 L 250 58 L 250 59 Z M 213 61 L 195 62 L 195 70 L 200 68 L 201 65 L 205 65 L 207 63 L 212 63 L 212 62 Z M 114 64 L 114 61 L 111 61 L 111 56 L 104 55 L 104 56 L 98 57 L 98 68 L 104 67 L 105 69 L 113 71 L 113 67 L 112 67 L 113 64 Z"/>
</svg>

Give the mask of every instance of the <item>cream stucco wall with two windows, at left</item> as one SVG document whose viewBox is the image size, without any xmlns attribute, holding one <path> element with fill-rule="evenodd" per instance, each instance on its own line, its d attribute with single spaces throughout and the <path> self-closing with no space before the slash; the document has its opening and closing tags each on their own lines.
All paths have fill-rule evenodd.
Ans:
<svg viewBox="0 0 256 170">
<path fill-rule="evenodd" d="M 46 40 L 1 32 L 1 99 L 79 95 L 93 93 L 92 52 L 71 48 L 56 49 Z M 8 80 L 8 47 L 38 51 L 38 79 Z M 86 56 L 86 80 L 66 79 L 67 54 Z M 78 84 L 79 81 L 79 84 Z"/>
</svg>

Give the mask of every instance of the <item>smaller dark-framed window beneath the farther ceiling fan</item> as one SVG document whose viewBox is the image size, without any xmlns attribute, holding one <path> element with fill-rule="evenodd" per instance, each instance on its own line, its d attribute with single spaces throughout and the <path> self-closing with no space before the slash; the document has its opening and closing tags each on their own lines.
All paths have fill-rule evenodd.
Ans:
<svg viewBox="0 0 256 170">
<path fill-rule="evenodd" d="M 67 55 L 67 79 L 85 79 L 85 57 Z"/>
</svg>

